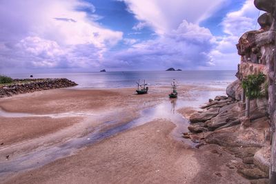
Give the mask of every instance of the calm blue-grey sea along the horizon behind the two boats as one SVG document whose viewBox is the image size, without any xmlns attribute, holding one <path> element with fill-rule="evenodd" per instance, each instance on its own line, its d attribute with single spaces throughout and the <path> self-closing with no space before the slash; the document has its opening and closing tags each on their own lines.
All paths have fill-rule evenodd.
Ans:
<svg viewBox="0 0 276 184">
<path fill-rule="evenodd" d="M 131 72 L 71 72 L 33 74 L 36 78 L 67 78 L 75 81 L 76 88 L 136 88 L 137 82 L 149 86 L 167 86 L 175 79 L 178 85 L 207 85 L 226 88 L 235 81 L 235 70 L 185 70 L 185 71 L 131 71 Z M 10 74 L 12 78 L 26 79 L 30 74 Z"/>
</svg>

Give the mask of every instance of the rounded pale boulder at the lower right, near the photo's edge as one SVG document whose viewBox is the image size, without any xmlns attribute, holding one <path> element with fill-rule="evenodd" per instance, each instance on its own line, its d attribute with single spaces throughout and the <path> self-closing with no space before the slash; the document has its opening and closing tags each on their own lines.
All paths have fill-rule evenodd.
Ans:
<svg viewBox="0 0 276 184">
<path fill-rule="evenodd" d="M 270 147 L 262 147 L 254 155 L 254 164 L 257 165 L 262 171 L 269 173 L 270 167 Z"/>
</svg>

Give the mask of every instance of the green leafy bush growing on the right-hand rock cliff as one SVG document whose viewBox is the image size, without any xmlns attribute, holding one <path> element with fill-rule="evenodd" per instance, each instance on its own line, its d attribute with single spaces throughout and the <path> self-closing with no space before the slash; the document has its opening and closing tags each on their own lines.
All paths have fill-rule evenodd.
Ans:
<svg viewBox="0 0 276 184">
<path fill-rule="evenodd" d="M 242 88 L 244 88 L 246 96 L 249 99 L 256 99 L 262 96 L 261 85 L 265 80 L 266 77 L 262 72 L 259 74 L 248 75 L 247 79 L 242 81 Z"/>
</svg>

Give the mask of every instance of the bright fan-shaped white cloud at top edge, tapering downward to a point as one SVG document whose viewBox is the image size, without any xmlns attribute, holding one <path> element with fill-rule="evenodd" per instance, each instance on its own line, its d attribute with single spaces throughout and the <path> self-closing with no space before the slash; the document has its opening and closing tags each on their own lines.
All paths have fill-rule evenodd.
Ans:
<svg viewBox="0 0 276 184">
<path fill-rule="evenodd" d="M 177 29 L 186 20 L 199 23 L 206 19 L 225 0 L 202 1 L 194 0 L 121 0 L 135 17 L 150 25 L 158 34 L 165 34 Z"/>
</svg>

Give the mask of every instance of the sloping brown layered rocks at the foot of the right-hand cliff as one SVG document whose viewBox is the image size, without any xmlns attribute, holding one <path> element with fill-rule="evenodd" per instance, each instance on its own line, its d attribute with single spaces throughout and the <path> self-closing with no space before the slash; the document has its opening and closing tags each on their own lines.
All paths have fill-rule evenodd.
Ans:
<svg viewBox="0 0 276 184">
<path fill-rule="evenodd" d="M 228 163 L 226 167 L 237 168 L 237 172 L 251 183 L 268 183 L 270 167 L 269 118 L 267 99 L 250 101 L 250 123 L 242 121 L 242 101 L 230 96 L 216 96 L 201 105 L 201 110 L 190 115 L 190 132 L 184 138 L 197 143 L 197 147 L 216 144 L 222 150 L 242 159 Z M 219 152 L 217 152 L 219 154 Z"/>
</svg>

